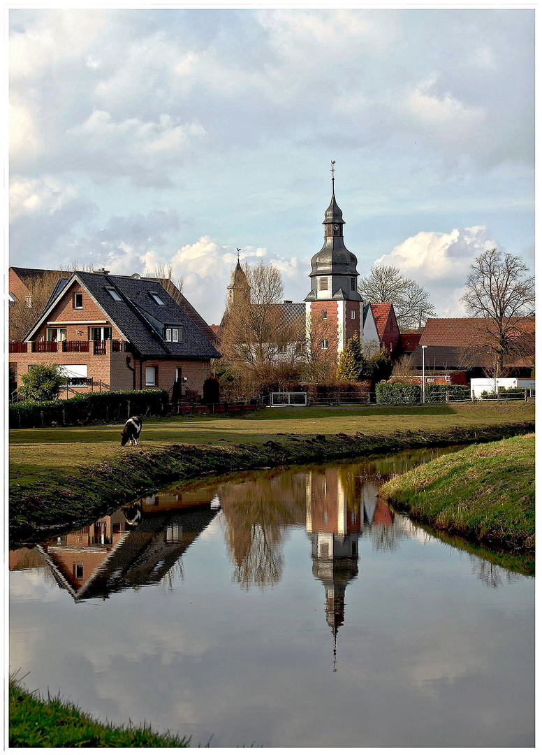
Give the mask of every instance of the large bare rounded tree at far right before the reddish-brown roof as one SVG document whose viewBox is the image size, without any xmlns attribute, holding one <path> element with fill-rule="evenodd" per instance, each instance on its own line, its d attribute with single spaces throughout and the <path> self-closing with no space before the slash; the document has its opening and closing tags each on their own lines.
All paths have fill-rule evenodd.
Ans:
<svg viewBox="0 0 542 755">
<path fill-rule="evenodd" d="M 521 257 L 488 249 L 470 266 L 461 297 L 467 313 L 479 318 L 471 353 L 488 355 L 494 377 L 504 374 L 504 362 L 534 356 L 534 332 L 527 318 L 534 315 L 534 276 Z"/>
</svg>

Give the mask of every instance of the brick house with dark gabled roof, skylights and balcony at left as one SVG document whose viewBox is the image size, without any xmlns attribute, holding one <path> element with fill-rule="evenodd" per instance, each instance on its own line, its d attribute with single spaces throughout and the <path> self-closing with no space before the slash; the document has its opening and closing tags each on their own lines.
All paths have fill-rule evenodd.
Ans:
<svg viewBox="0 0 542 755">
<path fill-rule="evenodd" d="M 201 394 L 220 353 L 187 305 L 139 275 L 96 270 L 60 278 L 23 341 L 10 343 L 17 384 L 30 365 L 56 364 L 66 376 L 64 396 L 157 387 L 178 396 L 183 386 Z"/>
</svg>

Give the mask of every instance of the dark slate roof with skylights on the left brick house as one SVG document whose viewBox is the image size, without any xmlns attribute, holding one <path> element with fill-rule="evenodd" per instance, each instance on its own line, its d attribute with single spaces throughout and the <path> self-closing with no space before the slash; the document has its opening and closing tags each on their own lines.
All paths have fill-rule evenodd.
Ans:
<svg viewBox="0 0 542 755">
<path fill-rule="evenodd" d="M 74 280 L 78 280 L 86 288 L 93 300 L 142 356 L 177 356 L 191 359 L 217 359 L 221 356 L 198 325 L 159 282 L 148 278 L 103 273 L 76 272 L 69 279 L 59 281 L 55 289 L 56 296 L 51 297 L 43 316 L 29 331 L 26 340 L 29 340 L 32 333 L 41 325 L 41 320 L 47 315 L 48 310 L 54 307 L 63 289 Z M 107 288 L 114 288 L 121 301 L 115 301 Z M 164 302 L 163 307 L 153 299 L 152 291 L 158 293 Z M 181 328 L 179 343 L 164 341 L 163 332 L 166 325 Z"/>
</svg>

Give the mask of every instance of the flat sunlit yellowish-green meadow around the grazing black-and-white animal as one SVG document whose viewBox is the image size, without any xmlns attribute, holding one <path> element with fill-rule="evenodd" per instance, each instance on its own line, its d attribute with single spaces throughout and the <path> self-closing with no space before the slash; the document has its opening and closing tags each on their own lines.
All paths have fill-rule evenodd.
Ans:
<svg viewBox="0 0 542 755">
<path fill-rule="evenodd" d="M 424 407 L 268 408 L 242 417 L 160 418 L 143 424 L 145 450 L 172 443 L 261 445 L 280 433 L 393 433 L 534 420 L 534 404 L 487 402 Z M 20 475 L 121 458 L 121 425 L 11 430 L 10 466 Z M 125 451 L 125 449 L 124 449 Z"/>
</svg>

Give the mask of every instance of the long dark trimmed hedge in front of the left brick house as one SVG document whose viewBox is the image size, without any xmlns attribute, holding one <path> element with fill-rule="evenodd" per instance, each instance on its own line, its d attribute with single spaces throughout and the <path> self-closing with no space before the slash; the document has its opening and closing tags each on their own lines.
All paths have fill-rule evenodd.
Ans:
<svg viewBox="0 0 542 755">
<path fill-rule="evenodd" d="M 92 422 L 121 422 L 133 415 L 164 414 L 169 405 L 167 390 L 109 390 L 102 393 L 79 393 L 72 399 L 56 401 L 21 401 L 11 404 L 9 424 L 12 429 L 85 425 Z"/>
</svg>

